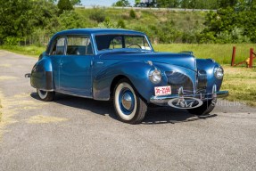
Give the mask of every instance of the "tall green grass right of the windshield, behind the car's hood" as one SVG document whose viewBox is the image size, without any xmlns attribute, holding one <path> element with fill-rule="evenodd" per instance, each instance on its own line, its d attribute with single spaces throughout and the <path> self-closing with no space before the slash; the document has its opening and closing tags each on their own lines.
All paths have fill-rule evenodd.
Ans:
<svg viewBox="0 0 256 171">
<path fill-rule="evenodd" d="M 197 58 L 211 58 L 220 64 L 230 64 L 233 46 L 236 47 L 235 63 L 244 61 L 250 56 L 250 48 L 255 49 L 253 44 L 168 44 L 153 45 L 156 52 L 173 52 L 192 51 Z M 256 62 L 256 60 L 255 60 Z"/>
</svg>

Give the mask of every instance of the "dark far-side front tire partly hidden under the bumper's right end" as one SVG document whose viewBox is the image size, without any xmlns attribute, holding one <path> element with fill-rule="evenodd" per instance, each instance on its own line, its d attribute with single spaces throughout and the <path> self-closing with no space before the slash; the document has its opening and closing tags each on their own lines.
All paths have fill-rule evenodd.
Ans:
<svg viewBox="0 0 256 171">
<path fill-rule="evenodd" d="M 217 99 L 203 102 L 202 106 L 194 109 L 188 109 L 187 111 L 194 115 L 207 115 L 215 108 L 216 102 Z"/>
</svg>

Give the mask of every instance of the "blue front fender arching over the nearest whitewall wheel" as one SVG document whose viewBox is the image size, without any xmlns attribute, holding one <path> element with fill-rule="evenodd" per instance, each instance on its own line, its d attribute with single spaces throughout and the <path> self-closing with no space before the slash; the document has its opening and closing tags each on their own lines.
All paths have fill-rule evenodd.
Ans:
<svg viewBox="0 0 256 171">
<path fill-rule="evenodd" d="M 153 83 L 149 80 L 149 72 L 154 69 L 145 61 L 124 61 L 108 66 L 96 74 L 93 80 L 95 100 L 109 100 L 111 83 L 115 77 L 128 77 L 136 91 L 149 101 L 152 95 Z"/>
</svg>

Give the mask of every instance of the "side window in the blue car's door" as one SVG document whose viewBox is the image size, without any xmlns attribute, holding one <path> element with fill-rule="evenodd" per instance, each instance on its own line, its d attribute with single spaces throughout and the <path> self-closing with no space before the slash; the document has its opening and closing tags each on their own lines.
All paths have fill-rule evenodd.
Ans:
<svg viewBox="0 0 256 171">
<path fill-rule="evenodd" d="M 67 55 L 93 54 L 92 43 L 88 37 L 68 37 Z"/>
</svg>

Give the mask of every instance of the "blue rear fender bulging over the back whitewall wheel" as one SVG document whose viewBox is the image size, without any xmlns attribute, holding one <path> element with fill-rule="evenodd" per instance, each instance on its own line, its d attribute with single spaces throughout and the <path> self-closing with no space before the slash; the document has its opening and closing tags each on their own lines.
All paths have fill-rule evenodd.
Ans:
<svg viewBox="0 0 256 171">
<path fill-rule="evenodd" d="M 42 57 L 31 71 L 30 84 L 40 90 L 54 91 L 51 59 Z"/>
</svg>

